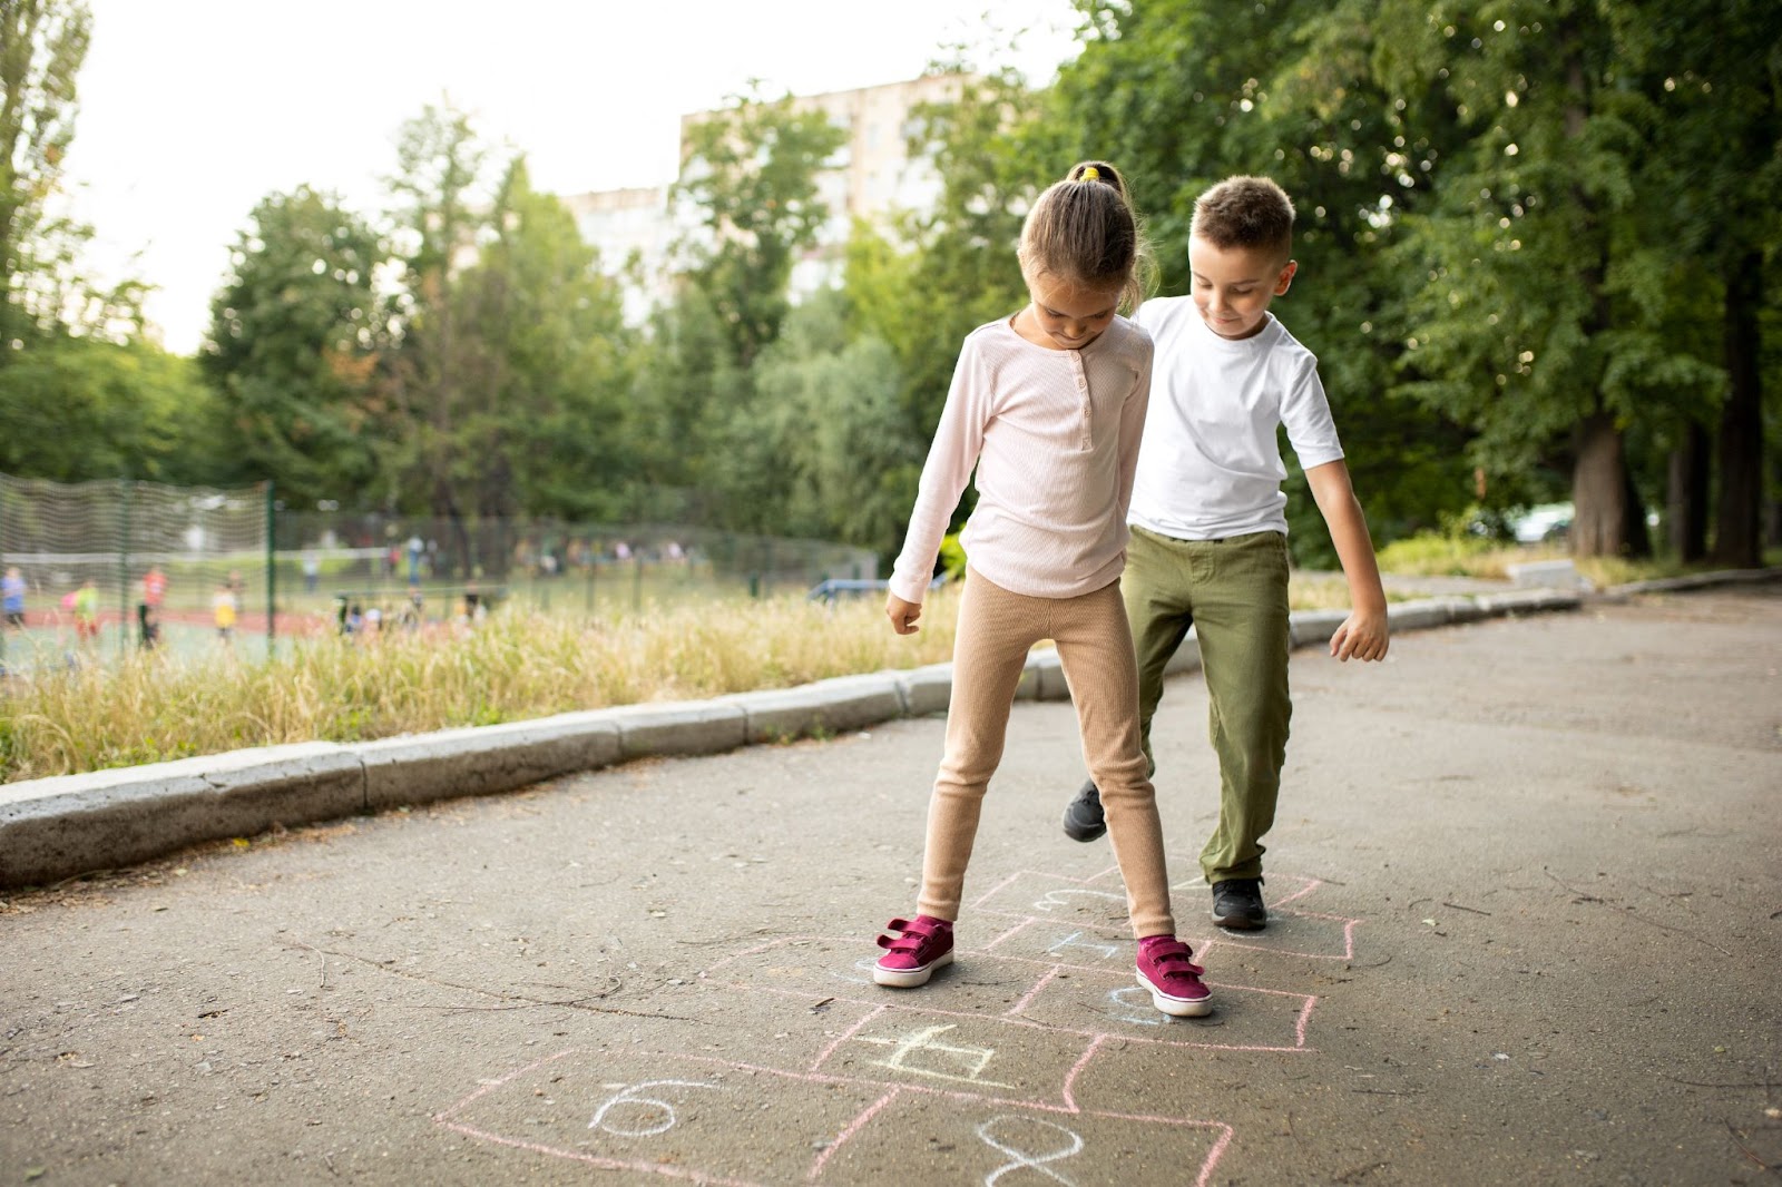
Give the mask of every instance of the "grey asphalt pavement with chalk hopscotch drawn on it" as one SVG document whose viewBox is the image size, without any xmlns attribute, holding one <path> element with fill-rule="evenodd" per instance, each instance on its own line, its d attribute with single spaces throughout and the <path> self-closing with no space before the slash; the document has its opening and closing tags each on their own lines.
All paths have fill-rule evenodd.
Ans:
<svg viewBox="0 0 1782 1187">
<path fill-rule="evenodd" d="M 914 991 L 861 966 L 937 715 L 7 893 L 0 1187 L 1775 1182 L 1782 585 L 1292 665 L 1265 932 L 1206 916 L 1198 675 L 1155 727 L 1210 1018 L 1137 991 L 1026 700 Z"/>
</svg>

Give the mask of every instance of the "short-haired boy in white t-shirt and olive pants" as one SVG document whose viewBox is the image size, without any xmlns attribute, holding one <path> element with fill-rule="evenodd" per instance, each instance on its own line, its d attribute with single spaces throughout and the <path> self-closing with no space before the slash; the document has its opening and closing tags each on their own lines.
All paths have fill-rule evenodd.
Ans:
<svg viewBox="0 0 1782 1187">
<path fill-rule="evenodd" d="M 1331 656 L 1386 654 L 1386 595 L 1317 358 L 1269 314 L 1299 267 L 1292 242 L 1294 207 L 1281 187 L 1228 178 L 1194 203 L 1190 296 L 1146 301 L 1135 319 L 1157 342 L 1121 583 L 1139 658 L 1139 729 L 1155 772 L 1164 665 L 1194 626 L 1221 782 L 1201 872 L 1214 921 L 1242 930 L 1269 920 L 1262 836 L 1274 823 L 1292 715 L 1283 424 L 1349 579 L 1353 610 Z M 1094 781 L 1071 800 L 1064 831 L 1078 841 L 1107 831 Z"/>
</svg>

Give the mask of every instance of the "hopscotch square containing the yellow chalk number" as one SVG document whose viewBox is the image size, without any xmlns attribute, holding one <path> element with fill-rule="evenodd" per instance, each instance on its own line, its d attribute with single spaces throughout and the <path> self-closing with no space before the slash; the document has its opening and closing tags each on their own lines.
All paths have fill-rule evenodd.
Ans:
<svg viewBox="0 0 1782 1187">
<path fill-rule="evenodd" d="M 1064 1107 L 1071 1071 L 1094 1041 L 1007 1018 L 886 1007 L 838 1039 L 811 1071 Z"/>
</svg>

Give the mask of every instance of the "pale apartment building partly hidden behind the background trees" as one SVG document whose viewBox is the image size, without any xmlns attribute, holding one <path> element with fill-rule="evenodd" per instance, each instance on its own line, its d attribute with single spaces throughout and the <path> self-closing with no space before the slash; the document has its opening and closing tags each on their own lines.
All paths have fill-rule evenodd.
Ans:
<svg viewBox="0 0 1782 1187">
<path fill-rule="evenodd" d="M 795 299 L 836 283 L 854 219 L 884 221 L 893 210 L 932 209 L 941 194 L 941 178 L 928 160 L 909 155 L 914 111 L 921 103 L 955 98 L 959 87 L 957 75 L 925 75 L 793 98 L 797 111 L 822 111 L 848 134 L 846 144 L 816 176 L 829 219 L 818 242 L 793 266 Z M 702 111 L 683 116 L 683 150 L 688 132 L 718 114 Z M 652 185 L 563 198 L 583 239 L 601 253 L 601 267 L 625 282 L 625 315 L 633 321 L 642 321 L 652 305 L 668 299 L 674 244 L 699 226 L 691 212 L 670 207 L 670 185 Z"/>
</svg>

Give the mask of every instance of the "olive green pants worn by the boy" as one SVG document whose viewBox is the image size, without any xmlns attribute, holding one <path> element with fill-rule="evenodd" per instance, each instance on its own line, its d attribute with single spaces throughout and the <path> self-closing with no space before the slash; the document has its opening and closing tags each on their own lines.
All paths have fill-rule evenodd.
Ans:
<svg viewBox="0 0 1782 1187">
<path fill-rule="evenodd" d="M 1151 754 L 1151 718 L 1164 665 L 1189 627 L 1201 645 L 1208 734 L 1219 754 L 1219 827 L 1201 850 L 1206 882 L 1260 879 L 1263 834 L 1274 825 L 1294 706 L 1287 690 L 1287 536 L 1174 540 L 1132 529 L 1121 592 L 1139 656 L 1139 731 Z"/>
</svg>

